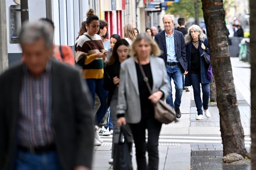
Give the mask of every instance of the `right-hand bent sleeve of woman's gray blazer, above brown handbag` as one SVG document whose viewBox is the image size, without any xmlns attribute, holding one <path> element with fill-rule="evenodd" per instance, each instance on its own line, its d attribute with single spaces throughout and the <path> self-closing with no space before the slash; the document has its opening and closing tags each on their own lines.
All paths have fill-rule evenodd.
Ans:
<svg viewBox="0 0 256 170">
<path fill-rule="evenodd" d="M 166 97 L 169 95 L 169 91 L 171 89 L 171 85 L 169 84 L 169 80 L 167 77 L 167 71 L 166 66 L 163 60 L 160 60 L 161 69 L 163 71 L 163 82 L 161 87 L 159 88 L 160 91 L 163 91 L 163 99 L 166 99 Z"/>
</svg>

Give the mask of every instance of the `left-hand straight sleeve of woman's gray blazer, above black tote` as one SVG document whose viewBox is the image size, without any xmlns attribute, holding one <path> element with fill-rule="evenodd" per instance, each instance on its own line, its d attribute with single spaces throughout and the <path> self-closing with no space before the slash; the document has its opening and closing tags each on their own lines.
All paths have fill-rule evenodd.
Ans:
<svg viewBox="0 0 256 170">
<path fill-rule="evenodd" d="M 126 92 L 125 92 L 125 77 L 127 76 L 127 70 L 125 69 L 125 65 L 120 65 L 120 83 L 118 89 L 118 104 L 116 106 L 117 114 L 124 114 L 127 109 L 126 103 Z"/>
</svg>

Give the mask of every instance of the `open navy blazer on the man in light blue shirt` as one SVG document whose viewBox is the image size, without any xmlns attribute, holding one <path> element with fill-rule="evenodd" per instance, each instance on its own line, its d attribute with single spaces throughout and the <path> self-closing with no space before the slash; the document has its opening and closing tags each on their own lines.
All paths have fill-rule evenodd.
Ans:
<svg viewBox="0 0 256 170">
<path fill-rule="evenodd" d="M 174 31 L 175 52 L 180 62 L 180 65 L 182 67 L 181 68 L 182 73 L 184 73 L 185 70 L 187 70 L 186 45 L 184 41 L 184 36 L 180 31 L 176 31 L 176 30 L 173 30 L 173 31 Z M 167 62 L 165 30 L 156 34 L 154 40 L 155 42 L 157 42 L 159 48 L 162 51 L 162 54 L 159 57 L 161 57 L 165 62 Z"/>
</svg>

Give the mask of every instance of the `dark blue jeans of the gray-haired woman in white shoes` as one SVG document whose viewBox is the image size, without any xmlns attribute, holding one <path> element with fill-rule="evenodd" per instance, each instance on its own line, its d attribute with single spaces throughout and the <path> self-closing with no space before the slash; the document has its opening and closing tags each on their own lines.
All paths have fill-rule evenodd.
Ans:
<svg viewBox="0 0 256 170">
<path fill-rule="evenodd" d="M 195 99 L 195 105 L 197 108 L 198 115 L 203 114 L 200 83 L 201 83 L 201 75 L 191 73 L 191 84 L 194 91 L 194 99 Z M 201 86 L 202 86 L 202 93 L 203 93 L 203 108 L 207 110 L 209 97 L 210 97 L 210 85 L 209 83 L 206 83 L 206 84 L 201 83 Z"/>
</svg>

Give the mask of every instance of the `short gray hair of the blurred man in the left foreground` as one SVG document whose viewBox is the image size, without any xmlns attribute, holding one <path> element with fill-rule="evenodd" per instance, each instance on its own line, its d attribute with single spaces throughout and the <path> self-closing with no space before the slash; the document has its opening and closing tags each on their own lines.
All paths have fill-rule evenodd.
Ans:
<svg viewBox="0 0 256 170">
<path fill-rule="evenodd" d="M 33 44 L 35 41 L 43 38 L 45 40 L 46 48 L 52 45 L 53 31 L 52 26 L 44 21 L 26 22 L 22 26 L 19 34 L 20 45 L 23 43 Z"/>
</svg>

